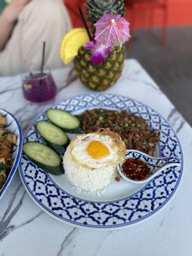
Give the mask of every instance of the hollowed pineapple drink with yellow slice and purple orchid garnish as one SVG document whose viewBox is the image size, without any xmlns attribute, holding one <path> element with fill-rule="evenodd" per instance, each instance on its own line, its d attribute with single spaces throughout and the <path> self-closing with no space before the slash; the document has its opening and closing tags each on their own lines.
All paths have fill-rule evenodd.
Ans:
<svg viewBox="0 0 192 256">
<path fill-rule="evenodd" d="M 106 13 L 124 16 L 124 0 L 88 0 L 88 3 L 85 5 L 87 13 L 86 18 L 92 23 L 91 29 L 93 35 L 95 35 L 95 26 L 98 20 Z M 75 29 L 72 29 L 72 31 L 73 30 Z M 83 30 L 84 32 L 82 33 Z M 79 76 L 79 79 L 83 84 L 92 90 L 101 91 L 113 86 L 122 72 L 125 58 L 125 44 L 115 47 L 107 47 L 95 40 L 89 42 L 90 39 L 88 38 L 88 35 L 85 36 L 85 29 L 81 29 L 81 31 L 76 29 L 76 31 L 70 31 L 69 33 L 71 33 L 71 35 L 74 33 L 74 35 L 76 35 L 76 40 L 73 40 L 72 43 L 72 36 L 68 35 L 63 39 L 63 47 L 61 46 L 61 57 L 63 61 L 68 63 L 74 59 L 77 76 Z M 81 42 L 79 42 L 78 39 L 80 35 Z M 76 48 L 76 51 L 71 54 L 71 52 L 67 50 L 67 44 L 71 45 L 68 48 L 70 51 L 73 47 Z M 92 47 L 90 47 L 91 44 Z M 63 54 L 62 52 L 68 52 L 68 54 Z M 99 56 L 100 52 L 102 56 Z M 95 61 L 93 59 L 94 54 L 96 55 L 96 59 L 99 58 L 99 60 Z"/>
</svg>

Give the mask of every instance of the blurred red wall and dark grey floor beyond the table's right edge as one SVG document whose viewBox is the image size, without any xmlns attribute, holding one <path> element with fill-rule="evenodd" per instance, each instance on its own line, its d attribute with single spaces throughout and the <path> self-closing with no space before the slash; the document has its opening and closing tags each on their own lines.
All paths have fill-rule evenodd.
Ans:
<svg viewBox="0 0 192 256">
<path fill-rule="evenodd" d="M 127 58 L 140 61 L 192 125 L 192 1 L 125 2 L 138 3 L 127 4 L 127 19 L 134 22 Z"/>
</svg>

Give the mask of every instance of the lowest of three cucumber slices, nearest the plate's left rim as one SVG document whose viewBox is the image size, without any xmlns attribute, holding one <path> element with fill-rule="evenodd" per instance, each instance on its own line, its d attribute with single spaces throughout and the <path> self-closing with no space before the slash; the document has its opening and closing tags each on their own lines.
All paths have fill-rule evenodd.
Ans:
<svg viewBox="0 0 192 256">
<path fill-rule="evenodd" d="M 27 142 L 23 145 L 24 153 L 45 172 L 54 175 L 64 173 L 61 157 L 46 145 L 39 142 Z"/>
</svg>

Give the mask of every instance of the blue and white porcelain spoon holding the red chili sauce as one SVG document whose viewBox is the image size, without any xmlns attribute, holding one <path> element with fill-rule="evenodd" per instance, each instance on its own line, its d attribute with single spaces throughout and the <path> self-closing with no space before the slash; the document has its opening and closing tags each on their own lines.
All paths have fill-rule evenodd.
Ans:
<svg viewBox="0 0 192 256">
<path fill-rule="evenodd" d="M 170 168 L 173 166 L 180 166 L 180 158 L 177 156 L 159 158 L 159 157 L 149 156 L 138 150 L 127 150 L 127 153 L 125 154 L 125 159 L 128 159 L 128 158 L 140 159 L 150 167 L 150 173 L 145 179 L 133 180 L 133 179 L 129 179 L 126 175 L 124 175 L 124 172 L 122 169 L 123 163 L 118 164 L 116 166 L 116 169 L 118 170 L 118 173 L 121 175 L 121 177 L 127 182 L 131 182 L 134 184 L 146 183 L 149 180 L 153 179 L 155 176 L 157 176 L 159 173 L 163 172 L 163 170 L 165 170 L 166 168 Z"/>
</svg>

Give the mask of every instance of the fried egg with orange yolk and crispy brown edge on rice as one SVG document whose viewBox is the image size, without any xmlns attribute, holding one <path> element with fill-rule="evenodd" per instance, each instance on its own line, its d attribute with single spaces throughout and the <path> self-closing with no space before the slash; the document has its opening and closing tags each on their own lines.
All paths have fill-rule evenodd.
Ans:
<svg viewBox="0 0 192 256">
<path fill-rule="evenodd" d="M 78 134 L 70 142 L 70 154 L 84 168 L 106 168 L 124 161 L 125 143 L 110 129 Z"/>
</svg>

